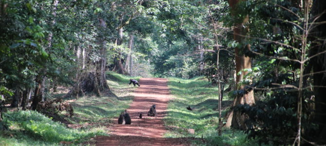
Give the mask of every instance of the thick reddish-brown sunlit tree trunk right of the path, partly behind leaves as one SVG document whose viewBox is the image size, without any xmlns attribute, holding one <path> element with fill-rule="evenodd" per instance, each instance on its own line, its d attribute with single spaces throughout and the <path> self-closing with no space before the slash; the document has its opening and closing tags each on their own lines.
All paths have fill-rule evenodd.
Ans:
<svg viewBox="0 0 326 146">
<path fill-rule="evenodd" d="M 235 14 L 235 9 L 236 9 L 236 4 L 239 2 L 240 0 L 229 0 L 229 4 L 231 7 L 231 14 L 232 16 L 236 16 Z M 246 36 L 247 34 L 247 29 L 243 28 L 243 24 L 247 23 L 249 20 L 249 16 L 246 16 L 241 23 L 235 23 L 234 24 L 234 29 L 233 29 L 233 33 L 234 33 L 234 40 L 240 44 L 243 44 L 242 42 L 244 41 L 244 37 L 242 36 Z M 243 52 L 243 50 L 245 49 L 250 49 L 250 45 L 247 44 L 246 46 L 239 48 L 239 47 L 235 47 L 235 71 L 236 73 L 239 73 L 240 71 L 242 71 L 243 69 L 250 69 L 251 68 L 251 58 L 248 56 L 245 56 L 243 54 L 240 54 L 239 52 Z M 240 74 L 236 75 L 236 89 L 237 90 L 241 90 L 244 89 L 244 86 L 239 86 L 238 83 L 241 82 L 243 80 L 244 75 L 246 75 L 248 72 L 243 72 Z M 255 101 L 254 101 L 254 91 L 253 90 L 249 90 L 246 91 L 245 94 L 243 95 L 236 95 L 235 99 L 233 101 L 233 106 L 237 106 L 239 104 L 248 104 L 248 105 L 254 105 Z M 226 123 L 226 127 L 233 127 L 233 128 L 238 128 L 238 129 L 247 129 L 246 125 L 245 125 L 245 120 L 247 119 L 247 116 L 245 114 L 242 114 L 240 112 L 235 112 L 234 110 L 231 110 L 228 112 L 227 114 L 227 123 Z"/>
</svg>

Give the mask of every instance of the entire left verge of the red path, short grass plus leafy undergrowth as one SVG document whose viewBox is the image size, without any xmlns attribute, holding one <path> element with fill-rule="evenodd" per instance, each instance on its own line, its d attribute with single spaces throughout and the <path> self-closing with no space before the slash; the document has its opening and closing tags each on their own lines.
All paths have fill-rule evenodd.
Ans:
<svg viewBox="0 0 326 146">
<path fill-rule="evenodd" d="M 6 112 L 4 121 L 9 123 L 9 130 L 0 132 L 0 146 L 58 146 L 60 142 L 73 146 L 96 135 L 108 135 L 107 127 L 128 108 L 133 100 L 130 93 L 136 88 L 128 86 L 129 76 L 107 74 L 110 90 L 115 95 L 88 94 L 78 100 L 66 99 L 73 105 L 74 116 L 65 117 L 63 112 L 62 117 L 71 123 L 71 128 L 36 111 Z"/>
</svg>

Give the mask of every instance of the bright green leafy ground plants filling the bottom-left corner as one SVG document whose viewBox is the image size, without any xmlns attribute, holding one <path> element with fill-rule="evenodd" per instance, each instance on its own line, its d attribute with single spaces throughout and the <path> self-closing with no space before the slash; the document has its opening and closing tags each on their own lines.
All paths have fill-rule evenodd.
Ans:
<svg viewBox="0 0 326 146">
<path fill-rule="evenodd" d="M 10 128 L 9 131 L 1 134 L 1 140 L 7 141 L 6 144 L 14 143 L 13 145 L 16 145 L 16 140 L 19 139 L 23 142 L 21 145 L 31 144 L 33 146 L 38 143 L 39 145 L 54 145 L 61 141 L 78 143 L 96 135 L 106 135 L 103 129 L 67 128 L 34 110 L 8 111 L 4 113 L 4 117 L 4 122 Z M 34 139 L 36 139 L 35 143 L 28 142 L 34 141 Z"/>
</svg>

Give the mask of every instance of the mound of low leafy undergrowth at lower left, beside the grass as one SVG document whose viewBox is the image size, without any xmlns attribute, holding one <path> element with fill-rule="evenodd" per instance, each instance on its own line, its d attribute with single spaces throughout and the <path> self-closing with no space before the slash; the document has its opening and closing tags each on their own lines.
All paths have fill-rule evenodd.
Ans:
<svg viewBox="0 0 326 146">
<path fill-rule="evenodd" d="M 34 110 L 20 110 L 5 113 L 4 122 L 8 123 L 9 128 L 16 131 L 23 131 L 30 136 L 45 142 L 76 141 L 94 137 L 95 135 L 104 135 L 100 129 L 80 130 L 66 128 L 65 125 L 54 122 L 41 113 Z"/>
</svg>

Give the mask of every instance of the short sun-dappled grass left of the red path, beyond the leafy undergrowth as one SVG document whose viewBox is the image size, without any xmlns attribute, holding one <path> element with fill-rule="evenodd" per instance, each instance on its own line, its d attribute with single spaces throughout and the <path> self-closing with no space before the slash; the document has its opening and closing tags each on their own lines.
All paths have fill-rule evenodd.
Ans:
<svg viewBox="0 0 326 146">
<path fill-rule="evenodd" d="M 135 77 L 137 80 L 139 78 Z M 68 120 L 74 124 L 73 127 L 107 127 L 114 117 L 129 107 L 133 100 L 131 93 L 136 89 L 128 85 L 130 76 L 109 72 L 107 79 L 109 88 L 115 95 L 89 95 L 71 102 L 75 116 Z"/>
</svg>

